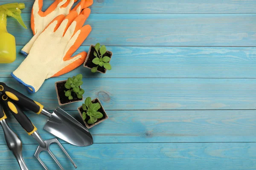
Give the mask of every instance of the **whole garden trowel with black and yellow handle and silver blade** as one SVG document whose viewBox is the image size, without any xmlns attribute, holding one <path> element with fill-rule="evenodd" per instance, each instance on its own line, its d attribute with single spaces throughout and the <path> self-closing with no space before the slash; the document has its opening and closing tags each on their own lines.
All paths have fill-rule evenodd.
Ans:
<svg viewBox="0 0 256 170">
<path fill-rule="evenodd" d="M 37 114 L 41 113 L 49 117 L 44 125 L 44 129 L 49 133 L 52 133 L 58 138 L 76 146 L 89 146 L 93 144 L 93 137 L 87 128 L 81 125 L 81 123 L 61 108 L 57 108 L 53 113 L 50 113 L 40 103 L 29 99 L 27 96 L 24 96 L 20 92 L 10 88 L 3 82 L 0 82 L 0 91 L 5 93 L 18 105 Z"/>
</svg>

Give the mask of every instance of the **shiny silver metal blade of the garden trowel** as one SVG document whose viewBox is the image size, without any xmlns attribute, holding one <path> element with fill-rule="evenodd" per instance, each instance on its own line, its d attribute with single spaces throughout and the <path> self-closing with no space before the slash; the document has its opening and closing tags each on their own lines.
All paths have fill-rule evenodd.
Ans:
<svg viewBox="0 0 256 170">
<path fill-rule="evenodd" d="M 48 119 L 44 125 L 45 130 L 76 146 L 89 146 L 93 144 L 93 137 L 80 122 L 61 108 L 55 109 L 53 113 L 58 116 L 61 122 Z"/>
</svg>

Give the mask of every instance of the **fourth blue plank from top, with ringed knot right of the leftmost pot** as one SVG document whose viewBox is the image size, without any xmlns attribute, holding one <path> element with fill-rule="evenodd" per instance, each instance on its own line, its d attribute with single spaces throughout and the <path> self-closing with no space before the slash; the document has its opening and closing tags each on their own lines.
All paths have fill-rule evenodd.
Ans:
<svg viewBox="0 0 256 170">
<path fill-rule="evenodd" d="M 46 105 L 58 106 L 55 85 L 61 78 L 44 82 L 28 94 L 13 78 L 1 82 Z M 106 110 L 209 110 L 255 109 L 256 79 L 83 79 L 84 97 L 99 97 Z M 64 105 L 76 110 L 81 102 Z"/>
</svg>

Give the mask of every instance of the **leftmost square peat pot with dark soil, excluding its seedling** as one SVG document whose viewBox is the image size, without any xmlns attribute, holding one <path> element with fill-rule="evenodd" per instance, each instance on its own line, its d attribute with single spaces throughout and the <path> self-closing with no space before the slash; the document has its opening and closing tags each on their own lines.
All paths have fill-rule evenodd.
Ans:
<svg viewBox="0 0 256 170">
<path fill-rule="evenodd" d="M 55 82 L 55 89 L 56 89 L 59 105 L 62 106 L 62 105 L 67 105 L 67 104 L 70 104 L 70 103 L 82 101 L 83 98 L 79 99 L 74 92 L 71 93 L 71 95 L 73 97 L 72 100 L 68 99 L 68 97 L 65 96 L 64 91 L 67 91 L 67 88 L 65 88 L 65 83 L 66 82 L 67 82 L 67 80 L 62 80 L 62 81 Z M 80 86 L 79 86 L 79 88 L 80 88 Z"/>
</svg>

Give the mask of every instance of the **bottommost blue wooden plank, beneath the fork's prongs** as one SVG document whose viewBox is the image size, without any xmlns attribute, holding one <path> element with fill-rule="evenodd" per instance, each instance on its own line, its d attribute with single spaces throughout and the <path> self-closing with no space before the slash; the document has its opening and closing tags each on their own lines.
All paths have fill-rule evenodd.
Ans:
<svg viewBox="0 0 256 170">
<path fill-rule="evenodd" d="M 43 170 L 35 159 L 37 145 L 23 145 L 23 156 L 29 169 Z M 76 147 L 64 144 L 76 162 L 77 170 L 255 170 L 255 143 L 137 143 L 93 144 Z M 5 145 L 0 146 L 1 170 L 17 170 L 17 161 Z M 74 169 L 55 144 L 51 148 L 63 167 Z M 50 169 L 56 163 L 42 153 Z"/>
</svg>

